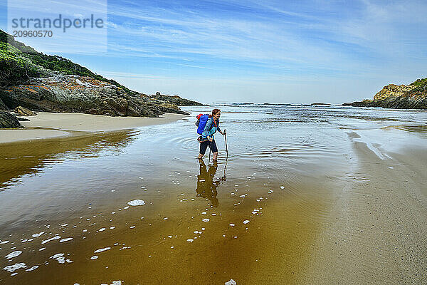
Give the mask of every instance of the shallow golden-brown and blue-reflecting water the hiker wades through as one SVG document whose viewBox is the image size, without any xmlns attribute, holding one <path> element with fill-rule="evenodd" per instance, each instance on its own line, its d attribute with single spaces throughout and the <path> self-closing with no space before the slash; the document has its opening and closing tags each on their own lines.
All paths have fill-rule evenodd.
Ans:
<svg viewBox="0 0 427 285">
<path fill-rule="evenodd" d="M 381 159 L 426 145 L 423 111 L 220 108 L 229 155 L 217 133 L 215 163 L 196 159 L 195 115 L 208 107 L 0 145 L 0 283 L 292 284 L 343 185 L 367 182 L 349 138 Z"/>
</svg>

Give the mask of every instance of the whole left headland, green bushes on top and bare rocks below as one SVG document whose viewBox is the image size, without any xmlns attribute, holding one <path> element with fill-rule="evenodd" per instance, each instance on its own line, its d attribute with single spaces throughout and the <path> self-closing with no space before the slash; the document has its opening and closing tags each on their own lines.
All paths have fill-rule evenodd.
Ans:
<svg viewBox="0 0 427 285">
<path fill-rule="evenodd" d="M 0 30 L 0 110 L 159 117 L 187 114 L 179 105 L 202 105 L 177 95 L 145 95 L 60 56 L 48 56 Z M 6 111 L 6 112 L 5 112 Z M 1 115 L 0 128 L 6 118 Z M 1 127 L 3 126 L 3 127 Z M 14 128 L 14 127 L 9 127 Z"/>
</svg>

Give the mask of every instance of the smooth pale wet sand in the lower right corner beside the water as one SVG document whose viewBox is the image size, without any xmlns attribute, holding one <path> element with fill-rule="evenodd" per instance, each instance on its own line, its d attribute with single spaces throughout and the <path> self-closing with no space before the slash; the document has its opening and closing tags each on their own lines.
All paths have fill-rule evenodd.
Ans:
<svg viewBox="0 0 427 285">
<path fill-rule="evenodd" d="M 427 284 L 426 145 L 381 158 L 349 133 L 357 166 L 317 235 L 301 284 Z"/>
</svg>

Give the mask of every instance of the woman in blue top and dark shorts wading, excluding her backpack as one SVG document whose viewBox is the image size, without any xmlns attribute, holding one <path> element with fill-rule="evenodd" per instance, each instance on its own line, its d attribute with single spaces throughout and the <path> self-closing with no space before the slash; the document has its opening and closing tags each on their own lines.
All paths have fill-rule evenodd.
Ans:
<svg viewBox="0 0 427 285">
<path fill-rule="evenodd" d="M 206 122 L 203 133 L 201 134 L 200 142 L 200 152 L 199 159 L 201 159 L 205 152 L 206 148 L 210 147 L 212 152 L 214 153 L 214 160 L 218 159 L 218 147 L 216 147 L 216 142 L 214 139 L 214 133 L 218 130 L 221 135 L 226 135 L 226 133 L 222 132 L 219 128 L 219 117 L 221 117 L 221 110 L 214 109 L 212 110 L 212 115 L 209 115 L 209 120 Z"/>
</svg>

